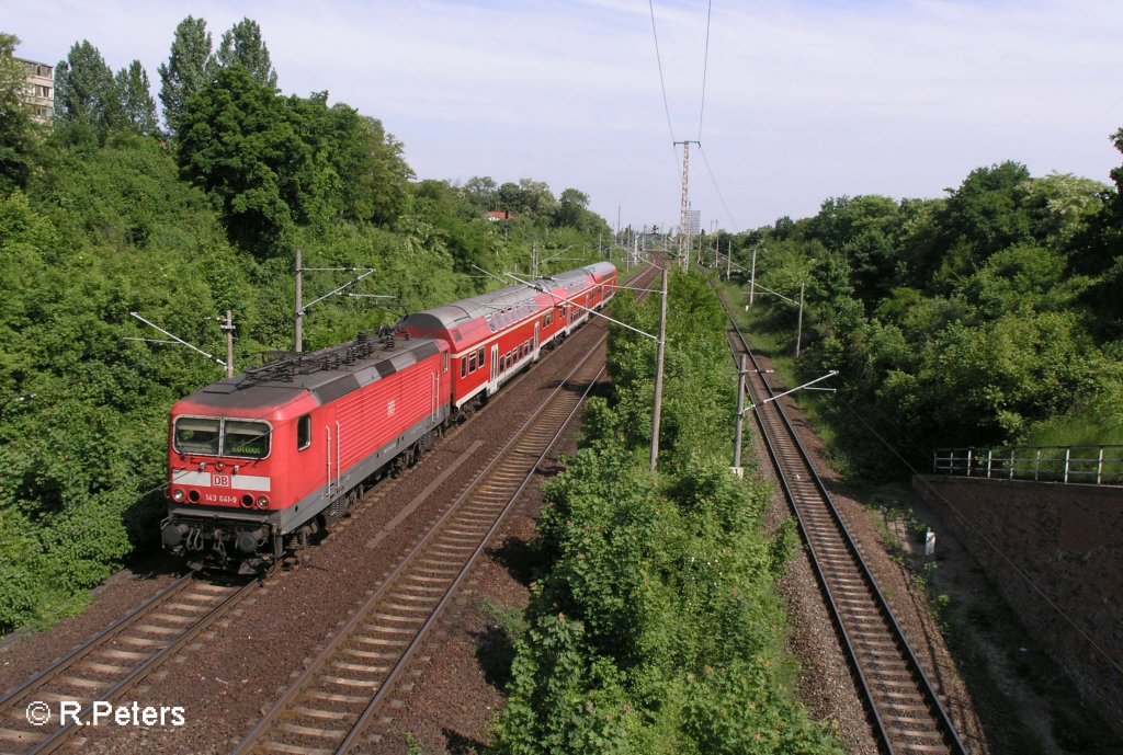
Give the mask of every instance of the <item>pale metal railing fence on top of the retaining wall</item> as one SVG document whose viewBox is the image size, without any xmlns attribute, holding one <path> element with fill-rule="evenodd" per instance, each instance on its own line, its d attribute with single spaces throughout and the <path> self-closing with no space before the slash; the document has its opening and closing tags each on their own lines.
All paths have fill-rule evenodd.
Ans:
<svg viewBox="0 0 1123 755">
<path fill-rule="evenodd" d="M 937 475 L 987 479 L 1123 485 L 1123 445 L 939 449 Z"/>
</svg>

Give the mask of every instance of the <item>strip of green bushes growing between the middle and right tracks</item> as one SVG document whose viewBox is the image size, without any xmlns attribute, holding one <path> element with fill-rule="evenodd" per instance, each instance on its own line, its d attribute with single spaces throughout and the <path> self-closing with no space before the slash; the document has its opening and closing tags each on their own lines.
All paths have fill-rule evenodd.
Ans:
<svg viewBox="0 0 1123 755">
<path fill-rule="evenodd" d="M 794 702 L 775 590 L 793 538 L 761 534 L 768 492 L 734 478 L 736 378 L 699 276 L 673 279 L 659 473 L 648 470 L 655 348 L 614 328 L 613 399 L 549 487 L 495 753 L 841 753 Z M 621 294 L 648 332 L 658 302 Z"/>
</svg>

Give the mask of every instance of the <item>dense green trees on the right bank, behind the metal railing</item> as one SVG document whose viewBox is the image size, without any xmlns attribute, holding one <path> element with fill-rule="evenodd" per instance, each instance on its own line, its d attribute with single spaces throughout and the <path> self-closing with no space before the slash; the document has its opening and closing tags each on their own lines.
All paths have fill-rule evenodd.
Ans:
<svg viewBox="0 0 1123 755">
<path fill-rule="evenodd" d="M 1119 442 L 1123 168 L 1112 178 L 1003 163 L 946 199 L 834 197 L 734 240 L 764 286 L 805 282 L 795 378 L 840 370 L 819 406 L 856 471 L 900 473 L 897 453 L 926 468 L 940 446 Z M 757 305 L 789 351 L 795 309 Z"/>
</svg>

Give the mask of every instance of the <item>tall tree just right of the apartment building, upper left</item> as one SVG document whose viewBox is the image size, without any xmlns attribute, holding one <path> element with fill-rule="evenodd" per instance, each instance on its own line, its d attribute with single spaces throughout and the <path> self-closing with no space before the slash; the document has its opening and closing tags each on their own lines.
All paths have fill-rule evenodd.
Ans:
<svg viewBox="0 0 1123 755">
<path fill-rule="evenodd" d="M 125 123 L 113 72 L 98 48 L 83 39 L 55 67 L 55 118 L 93 129 L 103 142 Z"/>
</svg>

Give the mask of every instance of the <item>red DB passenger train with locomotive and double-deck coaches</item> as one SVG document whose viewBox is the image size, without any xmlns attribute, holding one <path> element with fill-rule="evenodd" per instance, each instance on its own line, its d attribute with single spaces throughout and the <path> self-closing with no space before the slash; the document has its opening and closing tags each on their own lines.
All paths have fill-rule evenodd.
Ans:
<svg viewBox="0 0 1123 755">
<path fill-rule="evenodd" d="M 615 295 L 611 263 L 410 314 L 292 353 L 177 402 L 168 426 L 165 551 L 243 574 L 296 558 L 386 473 Z"/>
</svg>

